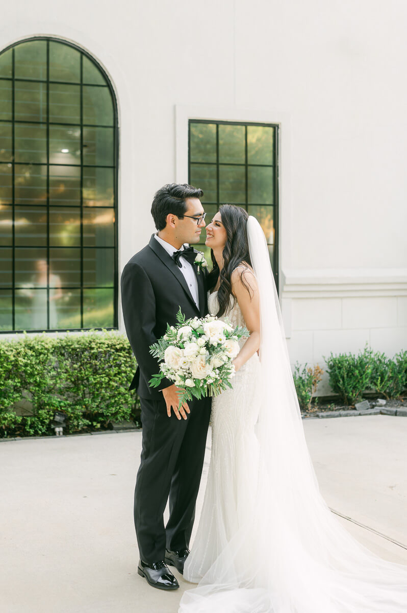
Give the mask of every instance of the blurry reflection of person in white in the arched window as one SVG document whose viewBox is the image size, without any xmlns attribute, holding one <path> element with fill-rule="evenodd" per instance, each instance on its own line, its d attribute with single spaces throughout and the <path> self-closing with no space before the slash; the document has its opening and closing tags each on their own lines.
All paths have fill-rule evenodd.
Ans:
<svg viewBox="0 0 407 613">
<path fill-rule="evenodd" d="M 47 260 L 35 262 L 35 273 L 32 275 L 32 287 L 47 287 Z M 47 326 L 47 295 L 45 292 L 32 292 L 32 327 L 34 329 Z M 57 328 L 58 314 L 56 300 L 62 297 L 61 279 L 53 275 L 50 269 L 50 329 Z"/>
</svg>

